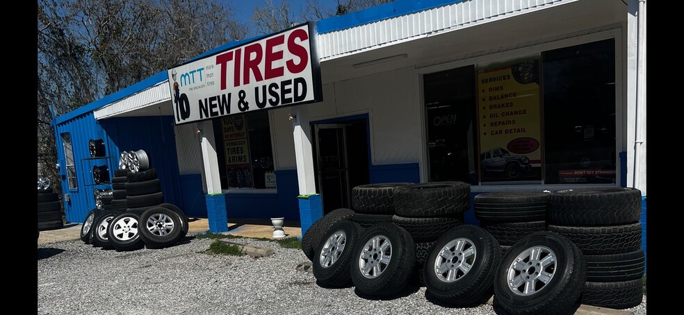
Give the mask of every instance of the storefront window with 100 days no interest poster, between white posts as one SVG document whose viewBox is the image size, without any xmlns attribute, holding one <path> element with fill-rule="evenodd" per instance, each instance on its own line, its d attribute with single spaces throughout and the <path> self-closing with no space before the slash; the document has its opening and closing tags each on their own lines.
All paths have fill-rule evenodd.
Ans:
<svg viewBox="0 0 684 315">
<path fill-rule="evenodd" d="M 275 188 L 267 112 L 213 120 L 222 187 Z M 222 139 L 222 141 L 218 141 Z"/>
</svg>

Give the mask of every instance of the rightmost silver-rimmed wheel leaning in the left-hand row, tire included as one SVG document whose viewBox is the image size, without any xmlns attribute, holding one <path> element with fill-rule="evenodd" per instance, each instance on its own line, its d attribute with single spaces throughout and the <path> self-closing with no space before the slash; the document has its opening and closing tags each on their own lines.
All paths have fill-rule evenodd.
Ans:
<svg viewBox="0 0 684 315">
<path fill-rule="evenodd" d="M 181 237 L 179 215 L 165 207 L 153 207 L 140 215 L 140 237 L 147 248 L 165 248 Z"/>
</svg>

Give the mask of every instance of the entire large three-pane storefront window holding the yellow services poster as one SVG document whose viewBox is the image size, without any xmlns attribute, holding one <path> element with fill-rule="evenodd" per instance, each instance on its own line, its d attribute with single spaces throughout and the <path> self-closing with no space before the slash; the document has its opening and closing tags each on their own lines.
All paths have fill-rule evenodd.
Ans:
<svg viewBox="0 0 684 315">
<path fill-rule="evenodd" d="M 603 40 L 425 74 L 430 180 L 614 183 L 614 56 Z"/>
</svg>

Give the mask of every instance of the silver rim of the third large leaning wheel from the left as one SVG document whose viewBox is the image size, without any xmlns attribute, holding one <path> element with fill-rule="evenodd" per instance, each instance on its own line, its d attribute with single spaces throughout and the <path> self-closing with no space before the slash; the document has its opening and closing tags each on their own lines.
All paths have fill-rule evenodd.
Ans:
<svg viewBox="0 0 684 315">
<path fill-rule="evenodd" d="M 453 239 L 439 250 L 434 259 L 434 274 L 442 282 L 458 281 L 471 270 L 477 254 L 477 248 L 470 239 Z"/>
</svg>

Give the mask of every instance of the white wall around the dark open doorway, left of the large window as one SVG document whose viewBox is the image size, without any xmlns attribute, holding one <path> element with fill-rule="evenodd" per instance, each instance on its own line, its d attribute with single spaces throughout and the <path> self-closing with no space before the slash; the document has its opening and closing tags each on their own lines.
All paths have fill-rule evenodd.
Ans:
<svg viewBox="0 0 684 315">
<path fill-rule="evenodd" d="M 323 102 L 310 104 L 319 121 L 366 114 L 371 128 L 371 163 L 417 163 L 422 146 L 418 74 L 413 67 L 323 85 Z M 295 169 L 291 108 L 270 111 L 277 169 Z"/>
</svg>

